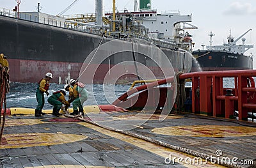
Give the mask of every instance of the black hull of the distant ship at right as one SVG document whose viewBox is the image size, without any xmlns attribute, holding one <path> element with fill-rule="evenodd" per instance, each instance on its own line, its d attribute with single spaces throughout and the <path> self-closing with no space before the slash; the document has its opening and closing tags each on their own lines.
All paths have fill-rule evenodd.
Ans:
<svg viewBox="0 0 256 168">
<path fill-rule="evenodd" d="M 195 50 L 192 52 L 203 71 L 252 70 L 253 58 L 225 50 Z"/>
</svg>

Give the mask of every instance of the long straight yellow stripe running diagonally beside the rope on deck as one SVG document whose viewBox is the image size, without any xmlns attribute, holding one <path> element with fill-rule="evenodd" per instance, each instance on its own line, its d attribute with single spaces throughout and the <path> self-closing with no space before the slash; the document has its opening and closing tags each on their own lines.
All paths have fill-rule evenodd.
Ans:
<svg viewBox="0 0 256 168">
<path fill-rule="evenodd" d="M 106 130 L 104 128 L 100 128 L 99 126 L 95 126 L 89 123 L 78 123 L 79 125 L 86 126 L 87 128 L 91 128 L 97 132 L 100 132 L 102 134 L 108 135 L 110 137 L 114 137 L 116 139 L 120 139 L 121 141 L 128 142 L 129 144 L 133 144 L 134 146 L 138 146 L 139 148 L 145 149 L 147 151 L 150 151 L 151 153 L 155 153 L 156 155 L 159 155 L 163 157 L 163 164 L 164 164 L 164 158 L 169 157 L 170 154 L 172 157 L 180 157 L 180 158 L 186 158 L 189 157 L 193 160 L 193 156 L 187 155 L 186 153 L 181 153 L 179 151 L 175 151 L 170 148 L 165 148 L 163 146 L 159 146 L 157 144 L 153 144 L 151 142 L 144 141 L 142 139 L 138 139 L 135 137 L 131 137 L 129 135 L 120 134 L 118 132 L 113 132 L 110 130 Z M 204 162 L 204 160 L 203 160 Z M 189 165 L 189 164 L 182 164 L 185 167 L 224 167 L 222 165 L 212 165 L 212 164 L 203 164 L 203 165 Z M 172 167 L 172 165 L 170 165 Z"/>
</svg>

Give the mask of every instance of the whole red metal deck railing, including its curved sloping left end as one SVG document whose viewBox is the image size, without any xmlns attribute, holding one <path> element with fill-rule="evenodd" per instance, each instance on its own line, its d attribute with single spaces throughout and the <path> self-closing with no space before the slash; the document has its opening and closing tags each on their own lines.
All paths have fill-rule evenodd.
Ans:
<svg viewBox="0 0 256 168">
<path fill-rule="evenodd" d="M 248 112 L 255 112 L 256 110 L 256 89 L 255 87 L 248 87 L 250 77 L 256 77 L 256 70 L 193 72 L 179 75 L 180 80 L 192 80 L 191 111 L 193 113 L 234 118 L 235 111 L 238 111 L 239 120 L 248 120 Z M 223 78 L 233 79 L 234 88 L 224 88 Z M 165 107 L 168 103 L 171 104 L 170 101 L 174 100 L 174 98 L 172 100 L 166 99 L 166 93 L 171 88 L 161 88 L 159 102 L 154 102 L 154 96 L 156 96 L 154 90 L 157 89 L 154 87 L 168 82 L 174 82 L 173 77 L 133 88 L 120 96 L 113 102 L 113 105 L 129 107 L 129 109 L 141 109 L 149 101 L 148 104 L 150 105 L 157 105 L 158 103 L 158 107 Z M 143 92 L 133 96 L 134 93 L 139 91 Z"/>
</svg>

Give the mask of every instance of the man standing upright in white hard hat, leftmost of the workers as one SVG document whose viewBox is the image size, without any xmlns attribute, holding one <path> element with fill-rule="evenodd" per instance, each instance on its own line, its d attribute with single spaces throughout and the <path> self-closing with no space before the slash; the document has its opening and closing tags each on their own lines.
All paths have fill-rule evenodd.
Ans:
<svg viewBox="0 0 256 168">
<path fill-rule="evenodd" d="M 35 116 L 40 117 L 44 115 L 45 113 L 42 112 L 42 109 L 44 107 L 44 93 L 48 96 L 48 89 L 49 89 L 49 81 L 52 79 L 52 73 L 47 72 L 45 74 L 45 78 L 41 79 L 38 82 L 38 88 L 36 89 L 36 101 L 38 105 L 36 106 L 35 109 Z"/>
</svg>

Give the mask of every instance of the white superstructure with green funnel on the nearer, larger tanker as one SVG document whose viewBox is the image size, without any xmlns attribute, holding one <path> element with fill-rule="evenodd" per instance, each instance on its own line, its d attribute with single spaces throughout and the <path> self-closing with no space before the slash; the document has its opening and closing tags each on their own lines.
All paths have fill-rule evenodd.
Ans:
<svg viewBox="0 0 256 168">
<path fill-rule="evenodd" d="M 137 4 L 136 1 L 134 4 Z M 115 15 L 115 20 L 113 15 Z M 151 9 L 150 0 L 140 0 L 138 11 L 124 10 L 124 12 L 115 14 L 105 13 L 105 16 L 109 18 L 110 25 L 107 31 L 112 35 L 122 33 L 127 37 L 140 36 L 151 40 L 155 45 L 163 47 L 166 44 L 175 44 L 178 49 L 185 50 L 191 50 L 192 42 L 184 40 L 188 34 L 185 33 L 186 29 L 198 28 L 188 23 L 192 21 L 192 15 L 180 15 L 179 11 L 157 13 L 156 10 Z"/>
</svg>

